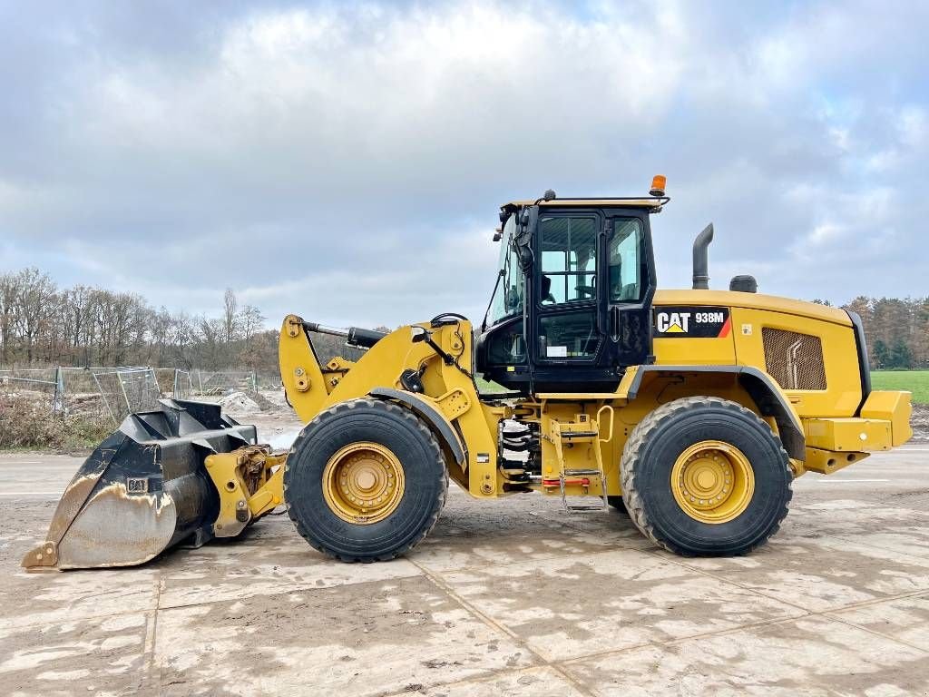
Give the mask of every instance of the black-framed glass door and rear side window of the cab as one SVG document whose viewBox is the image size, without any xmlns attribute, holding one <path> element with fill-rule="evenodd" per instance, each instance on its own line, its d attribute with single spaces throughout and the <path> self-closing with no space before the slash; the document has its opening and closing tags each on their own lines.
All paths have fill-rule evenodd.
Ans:
<svg viewBox="0 0 929 697">
<path fill-rule="evenodd" d="M 628 366 L 652 362 L 647 212 L 543 209 L 533 257 L 526 322 L 533 391 L 609 391 Z"/>
</svg>

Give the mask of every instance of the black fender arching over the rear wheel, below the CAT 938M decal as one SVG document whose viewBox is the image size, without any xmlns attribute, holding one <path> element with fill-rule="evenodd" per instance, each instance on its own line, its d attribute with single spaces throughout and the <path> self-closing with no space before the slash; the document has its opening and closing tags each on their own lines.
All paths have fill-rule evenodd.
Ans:
<svg viewBox="0 0 929 697">
<path fill-rule="evenodd" d="M 739 385 L 749 393 L 758 411 L 763 416 L 771 416 L 778 425 L 780 441 L 794 460 L 806 459 L 806 437 L 803 424 L 793 411 L 784 393 L 770 375 L 749 365 L 640 365 L 626 394 L 629 401 L 638 396 L 642 377 L 646 373 L 717 373 L 736 375 Z"/>
</svg>

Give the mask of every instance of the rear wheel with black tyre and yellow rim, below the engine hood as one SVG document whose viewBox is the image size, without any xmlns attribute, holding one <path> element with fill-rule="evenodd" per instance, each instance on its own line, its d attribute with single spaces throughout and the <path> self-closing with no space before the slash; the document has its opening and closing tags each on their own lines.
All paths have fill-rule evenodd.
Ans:
<svg viewBox="0 0 929 697">
<path fill-rule="evenodd" d="M 621 474 L 636 527 L 683 556 L 764 545 L 792 497 L 779 438 L 745 407 L 717 397 L 687 397 L 648 414 L 626 441 Z"/>
</svg>

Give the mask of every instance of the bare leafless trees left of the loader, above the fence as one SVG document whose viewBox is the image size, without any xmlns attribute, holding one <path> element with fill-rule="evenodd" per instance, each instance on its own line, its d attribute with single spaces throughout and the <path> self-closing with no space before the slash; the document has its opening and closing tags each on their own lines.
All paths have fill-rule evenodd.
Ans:
<svg viewBox="0 0 929 697">
<path fill-rule="evenodd" d="M 137 294 L 59 288 L 38 269 L 0 274 L 0 365 L 151 365 L 277 370 L 278 333 L 227 290 L 216 317 L 154 308 Z"/>
</svg>

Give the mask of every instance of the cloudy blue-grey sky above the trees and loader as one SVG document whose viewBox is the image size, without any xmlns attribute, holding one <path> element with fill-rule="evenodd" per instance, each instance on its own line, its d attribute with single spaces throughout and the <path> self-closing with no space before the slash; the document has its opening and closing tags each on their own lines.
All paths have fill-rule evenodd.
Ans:
<svg viewBox="0 0 929 697">
<path fill-rule="evenodd" d="M 660 287 L 929 295 L 929 3 L 0 0 L 0 272 L 479 321 L 500 204 L 640 195 Z"/>
</svg>

